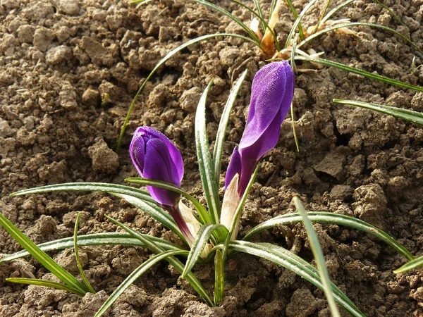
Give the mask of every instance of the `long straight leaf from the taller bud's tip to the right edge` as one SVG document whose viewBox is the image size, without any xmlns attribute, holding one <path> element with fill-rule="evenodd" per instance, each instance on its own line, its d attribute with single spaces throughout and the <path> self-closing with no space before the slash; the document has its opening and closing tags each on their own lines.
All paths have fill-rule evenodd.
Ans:
<svg viewBox="0 0 423 317">
<path fill-rule="evenodd" d="M 367 77 L 369 79 L 373 79 L 373 80 L 379 80 L 380 82 L 386 82 L 388 84 L 391 85 L 395 85 L 398 87 L 403 87 L 403 88 L 407 88 L 407 89 L 412 89 L 412 90 L 416 90 L 417 92 L 423 92 L 423 88 L 422 87 L 418 87 L 415 85 L 410 85 L 407 84 L 406 82 L 400 82 L 398 80 L 393 80 L 391 78 L 388 77 L 384 77 L 381 75 L 376 75 L 373 73 L 369 73 L 365 70 L 361 70 L 358 68 L 354 68 L 354 67 L 350 67 L 350 66 L 345 66 L 341 63 L 337 63 L 334 61 L 329 61 L 327 59 L 324 58 L 318 58 L 318 57 L 306 57 L 306 56 L 295 56 L 295 60 L 300 60 L 300 61 L 311 61 L 313 63 L 319 63 L 321 65 L 324 66 L 330 66 L 330 67 L 334 67 L 334 68 L 338 68 L 341 70 L 345 70 L 349 73 L 353 73 L 353 74 L 357 74 L 357 75 L 362 75 L 364 77 Z"/>
</svg>

